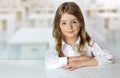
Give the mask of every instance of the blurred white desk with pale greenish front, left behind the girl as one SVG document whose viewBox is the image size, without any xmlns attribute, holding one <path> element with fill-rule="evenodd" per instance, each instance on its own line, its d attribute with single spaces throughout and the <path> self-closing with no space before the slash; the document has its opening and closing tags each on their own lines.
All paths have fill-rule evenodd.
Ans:
<svg viewBox="0 0 120 78">
<path fill-rule="evenodd" d="M 21 28 L 8 40 L 9 59 L 43 59 L 52 38 L 51 28 Z"/>
</svg>

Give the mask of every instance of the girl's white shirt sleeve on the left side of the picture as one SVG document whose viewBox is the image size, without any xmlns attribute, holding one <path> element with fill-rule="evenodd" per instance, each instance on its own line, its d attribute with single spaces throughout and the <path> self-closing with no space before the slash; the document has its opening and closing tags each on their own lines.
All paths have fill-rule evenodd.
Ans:
<svg viewBox="0 0 120 78">
<path fill-rule="evenodd" d="M 67 57 L 59 57 L 54 45 L 50 45 L 45 53 L 45 65 L 48 69 L 60 68 L 67 64 Z"/>
</svg>

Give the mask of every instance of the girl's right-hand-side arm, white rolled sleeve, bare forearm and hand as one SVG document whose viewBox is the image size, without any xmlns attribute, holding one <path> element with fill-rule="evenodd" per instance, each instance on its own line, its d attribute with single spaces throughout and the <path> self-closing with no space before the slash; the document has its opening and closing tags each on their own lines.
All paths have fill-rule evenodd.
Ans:
<svg viewBox="0 0 120 78">
<path fill-rule="evenodd" d="M 113 56 L 108 51 L 102 50 L 96 43 L 93 47 L 88 47 L 87 51 L 91 52 L 91 57 L 71 57 L 68 58 L 68 64 L 63 66 L 63 69 L 74 70 L 79 67 L 107 65 L 113 62 Z"/>
</svg>

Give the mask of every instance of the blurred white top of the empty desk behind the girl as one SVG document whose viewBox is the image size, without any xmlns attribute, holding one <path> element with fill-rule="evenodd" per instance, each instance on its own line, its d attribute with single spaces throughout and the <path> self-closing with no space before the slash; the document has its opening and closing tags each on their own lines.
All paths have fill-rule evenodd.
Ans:
<svg viewBox="0 0 120 78">
<path fill-rule="evenodd" d="M 49 43 L 52 37 L 51 28 L 21 28 L 11 39 L 9 44 Z"/>
</svg>

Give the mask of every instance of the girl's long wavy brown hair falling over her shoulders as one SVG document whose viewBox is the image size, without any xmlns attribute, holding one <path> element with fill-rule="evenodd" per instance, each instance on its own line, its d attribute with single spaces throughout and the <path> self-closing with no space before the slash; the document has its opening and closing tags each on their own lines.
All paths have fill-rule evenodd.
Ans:
<svg viewBox="0 0 120 78">
<path fill-rule="evenodd" d="M 55 48 L 58 51 L 58 54 L 60 57 L 64 56 L 63 52 L 62 52 L 62 32 L 60 30 L 60 20 L 61 17 L 64 13 L 68 13 L 71 15 L 74 15 L 79 23 L 80 23 L 80 31 L 78 33 L 78 36 L 80 36 L 81 41 L 79 43 L 78 46 L 78 53 L 83 53 L 82 48 L 84 48 L 86 42 L 90 45 L 90 36 L 88 35 L 88 33 L 85 31 L 85 22 L 84 22 L 84 18 L 83 18 L 83 14 L 81 12 L 81 9 L 79 8 L 79 6 L 74 3 L 74 2 L 65 2 L 63 4 L 61 4 L 55 14 L 55 18 L 54 18 L 54 27 L 53 27 L 53 37 L 55 38 Z"/>
</svg>

